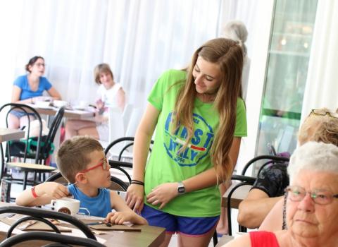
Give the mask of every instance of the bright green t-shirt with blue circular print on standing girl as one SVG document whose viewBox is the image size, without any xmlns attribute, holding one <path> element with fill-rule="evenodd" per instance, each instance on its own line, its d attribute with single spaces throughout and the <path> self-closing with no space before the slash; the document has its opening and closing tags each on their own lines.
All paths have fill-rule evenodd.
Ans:
<svg viewBox="0 0 338 247">
<path fill-rule="evenodd" d="M 219 122 L 219 114 L 214 109 L 213 103 L 204 103 L 196 98 L 193 110 L 194 135 L 184 152 L 177 154 L 182 143 L 185 143 L 187 129 L 181 126 L 173 134 L 169 128 L 177 93 L 185 82 L 186 76 L 185 71 L 166 71 L 158 79 L 149 95 L 149 102 L 160 111 L 160 114 L 154 146 L 146 164 L 145 195 L 162 183 L 183 181 L 213 167 L 210 149 Z M 182 83 L 177 83 L 179 81 Z M 242 99 L 237 101 L 234 136 L 246 136 L 246 113 Z M 154 205 L 149 206 L 157 209 Z M 162 210 L 172 215 L 186 217 L 218 216 L 220 215 L 220 191 L 218 186 L 212 186 L 185 193 L 171 200 Z"/>
</svg>

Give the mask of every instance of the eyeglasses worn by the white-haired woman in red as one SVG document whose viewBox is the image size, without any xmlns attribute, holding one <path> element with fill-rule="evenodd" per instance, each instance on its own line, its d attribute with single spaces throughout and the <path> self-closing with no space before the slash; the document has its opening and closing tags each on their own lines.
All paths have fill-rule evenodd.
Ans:
<svg viewBox="0 0 338 247">
<path fill-rule="evenodd" d="M 287 192 L 287 198 L 294 202 L 300 202 L 305 198 L 306 194 L 309 193 L 314 203 L 319 205 L 327 205 L 332 203 L 334 198 L 338 198 L 338 194 L 334 195 L 330 191 L 325 190 L 314 190 L 314 191 L 306 191 L 304 188 L 299 186 L 288 186 L 285 189 Z"/>
</svg>

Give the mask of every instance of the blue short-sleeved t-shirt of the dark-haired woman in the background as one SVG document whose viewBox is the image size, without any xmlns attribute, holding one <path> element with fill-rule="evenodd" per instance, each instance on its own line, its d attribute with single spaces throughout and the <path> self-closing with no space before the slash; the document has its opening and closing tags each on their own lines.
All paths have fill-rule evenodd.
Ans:
<svg viewBox="0 0 338 247">
<path fill-rule="evenodd" d="M 51 89 L 52 85 L 45 77 L 39 78 L 39 88 L 36 91 L 30 89 L 30 84 L 28 83 L 27 75 L 19 76 L 14 80 L 13 83 L 15 86 L 21 88 L 21 94 L 19 100 L 26 100 L 32 97 L 42 96 L 44 90 L 48 91 Z"/>
</svg>

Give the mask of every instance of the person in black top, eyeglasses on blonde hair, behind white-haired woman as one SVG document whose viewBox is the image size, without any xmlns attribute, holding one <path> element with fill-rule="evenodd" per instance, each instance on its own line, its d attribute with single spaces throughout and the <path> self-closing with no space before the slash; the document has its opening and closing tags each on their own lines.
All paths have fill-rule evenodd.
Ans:
<svg viewBox="0 0 338 247">
<path fill-rule="evenodd" d="M 316 141 L 338 146 L 338 114 L 327 108 L 311 110 L 299 128 L 298 141 L 299 145 Z M 284 229 L 283 200 L 288 185 L 287 163 L 263 169 L 249 194 L 239 203 L 239 224 L 268 231 Z"/>
</svg>

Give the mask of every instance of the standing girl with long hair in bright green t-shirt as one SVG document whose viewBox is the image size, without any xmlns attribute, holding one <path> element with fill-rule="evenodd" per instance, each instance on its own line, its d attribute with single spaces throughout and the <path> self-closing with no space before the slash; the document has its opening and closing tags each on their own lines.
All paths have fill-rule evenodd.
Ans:
<svg viewBox="0 0 338 247">
<path fill-rule="evenodd" d="M 175 232 L 179 246 L 210 242 L 220 217 L 217 184 L 230 179 L 246 136 L 242 68 L 238 42 L 210 40 L 196 50 L 189 68 L 163 73 L 149 95 L 135 135 L 126 202 L 150 225 L 165 227 L 161 246 Z"/>
</svg>

